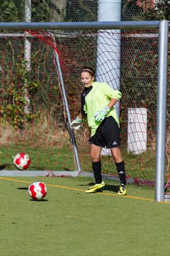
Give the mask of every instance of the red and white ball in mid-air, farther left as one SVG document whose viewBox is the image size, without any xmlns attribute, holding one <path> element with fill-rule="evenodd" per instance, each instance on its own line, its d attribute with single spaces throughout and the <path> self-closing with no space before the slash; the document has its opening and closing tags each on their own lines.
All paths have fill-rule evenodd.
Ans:
<svg viewBox="0 0 170 256">
<path fill-rule="evenodd" d="M 13 164 L 20 170 L 26 170 L 30 165 L 30 157 L 25 153 L 16 154 L 13 157 Z"/>
</svg>

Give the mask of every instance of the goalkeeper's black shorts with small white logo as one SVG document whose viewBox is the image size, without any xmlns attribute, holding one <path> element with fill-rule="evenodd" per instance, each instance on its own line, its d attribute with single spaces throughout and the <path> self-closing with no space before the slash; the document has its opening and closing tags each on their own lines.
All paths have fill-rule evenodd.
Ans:
<svg viewBox="0 0 170 256">
<path fill-rule="evenodd" d="M 120 147 L 120 128 L 113 117 L 105 118 L 96 133 L 89 139 L 90 144 L 106 149 Z"/>
</svg>

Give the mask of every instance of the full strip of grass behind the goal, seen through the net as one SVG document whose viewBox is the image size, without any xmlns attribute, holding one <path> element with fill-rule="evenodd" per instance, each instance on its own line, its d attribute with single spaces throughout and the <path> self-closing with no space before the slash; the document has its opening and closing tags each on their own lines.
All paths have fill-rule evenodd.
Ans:
<svg viewBox="0 0 170 256">
<path fill-rule="evenodd" d="M 42 147 L 36 148 L 28 144 L 8 144 L 1 145 L 0 150 L 0 170 L 17 170 L 13 165 L 12 156 L 18 152 L 26 152 L 31 158 L 29 171 L 50 170 L 50 171 L 74 171 L 73 150 L 70 145 L 59 147 Z M 152 186 L 155 176 L 155 156 L 151 150 L 140 155 L 127 154 L 125 149 L 122 150 L 123 159 L 125 159 L 125 170 L 128 178 L 134 178 L 136 183 L 145 183 Z M 91 159 L 89 151 L 79 149 L 79 159 L 81 170 L 91 172 Z M 102 173 L 117 176 L 115 164 L 111 156 L 101 156 Z M 165 176 L 165 180 L 167 177 Z M 165 181 L 166 182 L 166 181 Z"/>
</svg>

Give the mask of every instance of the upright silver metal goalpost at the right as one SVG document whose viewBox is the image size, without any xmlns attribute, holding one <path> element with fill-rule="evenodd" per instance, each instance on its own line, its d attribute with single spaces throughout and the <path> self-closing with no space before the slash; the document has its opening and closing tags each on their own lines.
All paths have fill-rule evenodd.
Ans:
<svg viewBox="0 0 170 256">
<path fill-rule="evenodd" d="M 169 22 L 159 22 L 159 59 L 157 90 L 157 149 L 155 201 L 164 201 L 164 170 L 166 146 L 166 85 L 168 69 Z"/>
</svg>

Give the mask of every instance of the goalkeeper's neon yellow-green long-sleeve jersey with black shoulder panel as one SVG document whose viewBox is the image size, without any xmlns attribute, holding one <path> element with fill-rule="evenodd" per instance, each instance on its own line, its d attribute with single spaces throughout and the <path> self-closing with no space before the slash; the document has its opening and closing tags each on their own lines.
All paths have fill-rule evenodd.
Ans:
<svg viewBox="0 0 170 256">
<path fill-rule="evenodd" d="M 106 82 L 94 82 L 90 88 L 85 88 L 81 93 L 81 112 L 87 114 L 89 127 L 91 127 L 91 136 L 101 124 L 97 122 L 94 115 L 98 110 L 102 110 L 108 105 L 111 99 L 120 100 L 122 94 L 118 90 L 113 90 Z M 119 125 L 119 120 L 114 107 L 108 112 L 106 117 L 112 116 Z"/>
</svg>

